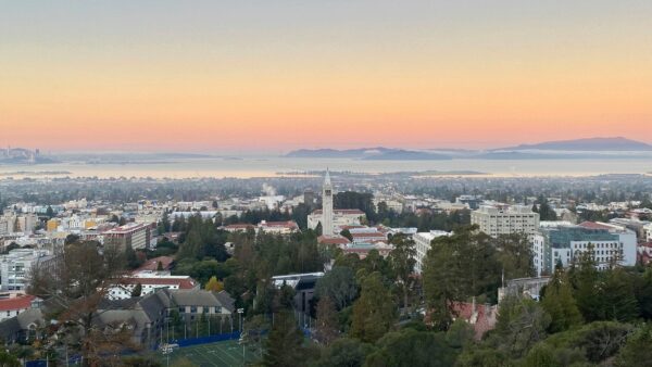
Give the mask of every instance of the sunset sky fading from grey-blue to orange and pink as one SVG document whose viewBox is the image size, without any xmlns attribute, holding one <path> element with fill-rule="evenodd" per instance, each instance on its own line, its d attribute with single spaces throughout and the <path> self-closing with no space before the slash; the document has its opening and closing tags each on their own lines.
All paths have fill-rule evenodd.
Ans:
<svg viewBox="0 0 652 367">
<path fill-rule="evenodd" d="M 652 142 L 649 0 L 0 8 L 0 145 L 280 152 Z"/>
</svg>

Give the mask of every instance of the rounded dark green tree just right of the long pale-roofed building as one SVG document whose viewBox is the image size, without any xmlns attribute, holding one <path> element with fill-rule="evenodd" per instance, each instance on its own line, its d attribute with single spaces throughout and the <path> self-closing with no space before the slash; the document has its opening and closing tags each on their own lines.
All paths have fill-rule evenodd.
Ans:
<svg viewBox="0 0 652 367">
<path fill-rule="evenodd" d="M 355 275 L 350 267 L 334 266 L 317 280 L 315 293 L 318 298 L 329 298 L 337 309 L 350 305 L 358 295 Z"/>
</svg>

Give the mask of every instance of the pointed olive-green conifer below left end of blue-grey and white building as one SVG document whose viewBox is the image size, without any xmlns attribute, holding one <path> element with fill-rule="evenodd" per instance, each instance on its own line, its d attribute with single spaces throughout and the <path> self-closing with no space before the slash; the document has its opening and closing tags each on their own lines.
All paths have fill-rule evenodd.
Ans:
<svg viewBox="0 0 652 367">
<path fill-rule="evenodd" d="M 557 266 L 546 287 L 541 305 L 551 317 L 548 328 L 550 332 L 564 331 L 582 322 L 581 314 L 573 298 L 570 281 L 561 266 Z"/>
</svg>

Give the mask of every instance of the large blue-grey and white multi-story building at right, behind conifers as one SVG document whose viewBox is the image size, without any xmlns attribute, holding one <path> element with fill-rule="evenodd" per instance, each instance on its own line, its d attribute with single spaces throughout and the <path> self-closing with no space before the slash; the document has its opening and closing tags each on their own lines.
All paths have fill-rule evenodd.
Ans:
<svg viewBox="0 0 652 367">
<path fill-rule="evenodd" d="M 592 251 L 598 269 L 611 264 L 632 266 L 637 258 L 636 233 L 601 223 L 541 228 L 532 236 L 531 249 L 538 276 L 552 274 L 557 263 L 567 266 L 588 251 Z"/>
</svg>

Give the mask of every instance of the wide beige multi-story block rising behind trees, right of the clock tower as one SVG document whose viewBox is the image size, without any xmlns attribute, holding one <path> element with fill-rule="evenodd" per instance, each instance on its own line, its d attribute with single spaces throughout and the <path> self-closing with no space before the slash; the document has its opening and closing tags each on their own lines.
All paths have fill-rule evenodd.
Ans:
<svg viewBox="0 0 652 367">
<path fill-rule="evenodd" d="M 528 206 L 484 205 L 471 213 L 471 224 L 477 225 L 480 231 L 491 237 L 511 233 L 535 235 L 539 229 L 539 214 Z"/>
</svg>

